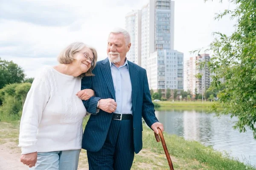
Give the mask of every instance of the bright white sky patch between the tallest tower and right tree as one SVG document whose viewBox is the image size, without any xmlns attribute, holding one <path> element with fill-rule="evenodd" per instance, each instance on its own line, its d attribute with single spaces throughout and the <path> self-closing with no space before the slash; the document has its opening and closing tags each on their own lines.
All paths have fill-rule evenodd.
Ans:
<svg viewBox="0 0 256 170">
<path fill-rule="evenodd" d="M 184 53 L 185 59 L 192 57 L 189 51 L 207 47 L 214 37 L 213 32 L 231 34 L 234 21 L 229 17 L 214 20 L 216 13 L 235 6 L 227 1 L 218 0 L 204 3 L 203 0 L 175 1 L 175 49 Z"/>
</svg>

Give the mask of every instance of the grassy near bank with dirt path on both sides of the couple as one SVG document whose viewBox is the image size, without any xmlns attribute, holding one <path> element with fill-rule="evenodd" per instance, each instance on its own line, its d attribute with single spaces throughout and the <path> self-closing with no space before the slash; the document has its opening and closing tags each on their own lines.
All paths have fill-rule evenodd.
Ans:
<svg viewBox="0 0 256 170">
<path fill-rule="evenodd" d="M 86 120 L 84 121 L 84 125 Z M 0 122 L 0 146 L 5 147 L 12 154 L 12 169 L 15 164 L 20 166 L 20 148 L 18 143 L 19 122 Z M 134 157 L 132 170 L 168 170 L 168 163 L 162 144 L 157 143 L 154 133 L 143 125 L 143 150 Z M 228 159 L 211 147 L 205 147 L 198 142 L 189 142 L 175 135 L 164 133 L 166 145 L 174 164 L 175 170 L 256 170 L 235 159 Z M 1 147 L 0 147 L 1 148 Z M 15 163 L 14 163 L 15 162 Z M 1 165 L 3 166 L 3 165 Z M 6 165 L 10 166 L 10 165 Z M 2 167 L 1 167 L 2 168 Z M 6 167 L 3 167 L 7 169 Z M 17 169 L 17 168 L 16 168 Z M 86 151 L 80 154 L 79 170 L 87 170 Z M 23 170 L 20 169 L 19 170 Z"/>
</svg>

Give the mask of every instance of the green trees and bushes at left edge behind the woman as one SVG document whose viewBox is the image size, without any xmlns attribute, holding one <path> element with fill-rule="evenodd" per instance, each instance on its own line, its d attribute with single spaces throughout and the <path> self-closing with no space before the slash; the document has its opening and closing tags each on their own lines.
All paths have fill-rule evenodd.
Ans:
<svg viewBox="0 0 256 170">
<path fill-rule="evenodd" d="M 25 78 L 23 69 L 0 58 L 0 121 L 20 119 L 22 108 L 34 78 Z"/>
</svg>

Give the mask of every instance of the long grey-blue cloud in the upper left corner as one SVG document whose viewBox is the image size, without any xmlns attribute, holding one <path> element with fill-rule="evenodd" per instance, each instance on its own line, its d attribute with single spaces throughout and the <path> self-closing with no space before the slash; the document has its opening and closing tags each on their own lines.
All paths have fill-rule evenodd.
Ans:
<svg viewBox="0 0 256 170">
<path fill-rule="evenodd" d="M 57 10 L 56 10 L 57 9 Z M 0 18 L 44 26 L 65 26 L 74 22 L 76 13 L 62 4 L 44 1 L 6 0 L 1 2 Z"/>
</svg>

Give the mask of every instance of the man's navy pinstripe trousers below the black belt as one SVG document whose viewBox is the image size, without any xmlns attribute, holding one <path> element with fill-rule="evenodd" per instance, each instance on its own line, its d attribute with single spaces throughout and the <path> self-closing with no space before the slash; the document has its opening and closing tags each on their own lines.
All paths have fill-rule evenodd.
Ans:
<svg viewBox="0 0 256 170">
<path fill-rule="evenodd" d="M 132 119 L 112 119 L 103 147 L 98 152 L 87 151 L 87 156 L 90 170 L 130 170 L 134 160 Z"/>
</svg>

